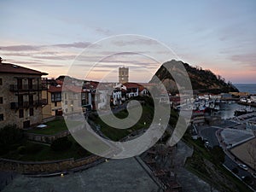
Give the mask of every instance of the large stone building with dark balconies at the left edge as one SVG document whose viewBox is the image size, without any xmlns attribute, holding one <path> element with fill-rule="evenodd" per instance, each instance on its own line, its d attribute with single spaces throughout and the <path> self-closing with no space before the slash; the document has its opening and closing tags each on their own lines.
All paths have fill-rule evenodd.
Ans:
<svg viewBox="0 0 256 192">
<path fill-rule="evenodd" d="M 0 62 L 0 127 L 28 128 L 41 123 L 47 104 L 47 97 L 42 96 L 47 79 L 41 77 L 47 74 Z"/>
</svg>

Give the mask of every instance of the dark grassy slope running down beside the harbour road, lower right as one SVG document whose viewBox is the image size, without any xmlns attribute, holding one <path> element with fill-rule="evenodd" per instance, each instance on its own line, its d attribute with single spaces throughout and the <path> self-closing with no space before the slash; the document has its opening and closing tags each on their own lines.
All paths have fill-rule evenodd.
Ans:
<svg viewBox="0 0 256 192">
<path fill-rule="evenodd" d="M 234 191 L 234 189 L 239 189 L 241 192 L 251 191 L 244 183 L 226 170 L 221 162 L 216 160 L 216 158 L 218 156 L 220 157 L 222 154 L 207 150 L 200 139 L 193 140 L 187 134 L 183 140 L 194 148 L 192 157 L 188 158 L 186 161 L 186 168 L 190 172 L 201 177 L 201 179 L 205 180 L 207 183 L 211 183 L 216 189 L 224 189 L 227 192 Z M 209 165 L 211 165 L 210 168 Z"/>
</svg>

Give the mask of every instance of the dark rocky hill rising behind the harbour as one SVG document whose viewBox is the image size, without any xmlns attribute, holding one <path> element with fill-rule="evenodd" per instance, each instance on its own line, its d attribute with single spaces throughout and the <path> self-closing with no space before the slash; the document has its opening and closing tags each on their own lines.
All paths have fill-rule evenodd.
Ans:
<svg viewBox="0 0 256 192">
<path fill-rule="evenodd" d="M 166 90 L 174 93 L 177 92 L 177 84 L 172 78 L 172 74 L 169 73 L 168 70 L 176 73 L 177 81 L 181 82 L 184 79 L 184 72 L 180 68 L 181 65 L 183 65 L 189 74 L 189 79 L 195 93 L 210 92 L 217 94 L 220 92 L 239 92 L 239 90 L 237 90 L 236 87 L 231 84 L 231 82 L 226 83 L 224 78 L 212 73 L 210 70 L 203 70 L 201 67 L 192 67 L 187 63 L 183 63 L 183 61 L 176 60 L 163 63 L 155 73 L 155 76 L 166 86 Z M 157 82 L 155 76 L 149 81 L 149 83 Z"/>
</svg>

